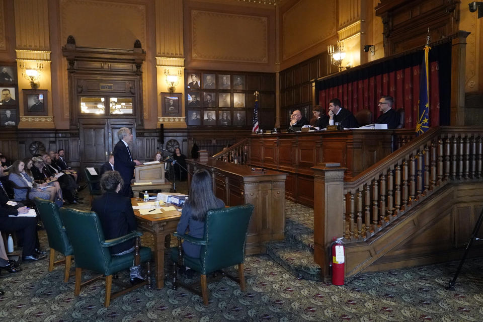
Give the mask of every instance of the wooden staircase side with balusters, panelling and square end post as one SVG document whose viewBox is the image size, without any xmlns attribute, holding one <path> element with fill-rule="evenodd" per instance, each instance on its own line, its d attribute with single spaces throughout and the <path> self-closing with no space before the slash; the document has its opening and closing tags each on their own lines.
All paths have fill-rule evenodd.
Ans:
<svg viewBox="0 0 483 322">
<path fill-rule="evenodd" d="M 323 278 L 333 237 L 346 244 L 347 277 L 459 258 L 483 205 L 482 136 L 481 127 L 433 128 L 350 181 L 344 168 L 312 168 Z"/>
</svg>

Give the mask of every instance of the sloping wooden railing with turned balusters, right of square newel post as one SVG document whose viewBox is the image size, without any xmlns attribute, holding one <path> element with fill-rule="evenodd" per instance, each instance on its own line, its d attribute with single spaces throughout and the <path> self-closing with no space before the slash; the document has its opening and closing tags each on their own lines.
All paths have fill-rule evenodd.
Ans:
<svg viewBox="0 0 483 322">
<path fill-rule="evenodd" d="M 482 179 L 483 129 L 437 127 L 344 182 L 346 243 L 365 240 L 450 181 Z"/>
</svg>

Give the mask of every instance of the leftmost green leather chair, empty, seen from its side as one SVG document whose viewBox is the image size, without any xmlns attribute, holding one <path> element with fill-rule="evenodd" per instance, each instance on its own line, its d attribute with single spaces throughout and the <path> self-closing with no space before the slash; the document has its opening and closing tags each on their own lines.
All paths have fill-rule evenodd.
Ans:
<svg viewBox="0 0 483 322">
<path fill-rule="evenodd" d="M 47 232 L 47 237 L 49 239 L 49 272 L 53 271 L 54 264 L 65 263 L 64 283 L 67 283 L 69 280 L 70 263 L 74 251 L 72 245 L 70 245 L 70 240 L 67 237 L 62 220 L 60 220 L 59 207 L 52 201 L 45 199 L 34 198 L 34 202 L 40 218 L 44 223 L 45 231 Z M 62 255 L 65 256 L 65 259 L 54 262 L 55 251 L 62 253 Z"/>
</svg>

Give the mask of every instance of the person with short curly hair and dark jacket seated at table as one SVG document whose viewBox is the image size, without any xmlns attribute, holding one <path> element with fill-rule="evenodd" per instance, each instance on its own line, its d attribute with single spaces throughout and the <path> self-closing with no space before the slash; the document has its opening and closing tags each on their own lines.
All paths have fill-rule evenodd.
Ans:
<svg viewBox="0 0 483 322">
<path fill-rule="evenodd" d="M 95 211 L 101 221 L 102 230 L 106 239 L 124 236 L 137 228 L 131 199 L 118 194 L 123 185 L 121 175 L 117 171 L 106 171 L 101 177 L 101 188 L 104 194 L 92 202 L 91 211 Z M 135 240 L 127 240 L 124 243 L 109 249 L 113 256 L 119 256 L 134 252 Z M 144 278 L 140 272 L 141 265 L 130 268 L 131 283 L 142 282 Z"/>
</svg>

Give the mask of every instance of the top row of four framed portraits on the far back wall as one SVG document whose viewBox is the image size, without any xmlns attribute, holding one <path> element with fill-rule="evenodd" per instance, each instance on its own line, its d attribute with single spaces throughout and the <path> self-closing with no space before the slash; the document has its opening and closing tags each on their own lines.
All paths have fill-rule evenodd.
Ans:
<svg viewBox="0 0 483 322">
<path fill-rule="evenodd" d="M 188 90 L 245 90 L 245 76 L 188 72 L 185 84 Z"/>
</svg>

